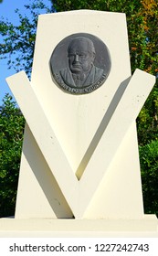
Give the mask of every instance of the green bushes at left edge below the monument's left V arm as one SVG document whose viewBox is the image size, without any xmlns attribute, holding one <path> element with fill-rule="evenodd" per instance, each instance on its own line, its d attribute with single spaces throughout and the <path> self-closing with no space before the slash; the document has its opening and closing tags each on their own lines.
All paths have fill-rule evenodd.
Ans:
<svg viewBox="0 0 158 256">
<path fill-rule="evenodd" d="M 25 120 L 6 94 L 0 107 L 0 217 L 14 215 Z"/>
</svg>

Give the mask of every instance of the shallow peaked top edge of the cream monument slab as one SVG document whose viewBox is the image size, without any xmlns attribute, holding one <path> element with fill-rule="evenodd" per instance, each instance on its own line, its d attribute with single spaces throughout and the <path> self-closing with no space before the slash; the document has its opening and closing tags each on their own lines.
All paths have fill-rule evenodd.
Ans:
<svg viewBox="0 0 158 256">
<path fill-rule="evenodd" d="M 108 11 L 99 11 L 99 10 L 89 10 L 89 9 L 80 9 L 80 10 L 71 10 L 65 12 L 57 12 L 57 13 L 50 13 L 50 14 L 42 14 L 39 17 L 44 16 L 67 16 L 67 15 L 117 15 L 117 16 L 126 16 L 125 13 L 119 12 L 108 12 Z"/>
</svg>

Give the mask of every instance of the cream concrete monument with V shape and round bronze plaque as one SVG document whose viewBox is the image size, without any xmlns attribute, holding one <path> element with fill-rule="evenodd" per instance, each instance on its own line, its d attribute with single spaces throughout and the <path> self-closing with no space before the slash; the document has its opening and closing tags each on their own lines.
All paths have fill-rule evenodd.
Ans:
<svg viewBox="0 0 158 256">
<path fill-rule="evenodd" d="M 5 235 L 157 236 L 157 219 L 143 213 L 135 124 L 155 78 L 131 74 L 125 15 L 39 16 L 31 81 L 21 71 L 7 82 L 26 129 Z"/>
</svg>

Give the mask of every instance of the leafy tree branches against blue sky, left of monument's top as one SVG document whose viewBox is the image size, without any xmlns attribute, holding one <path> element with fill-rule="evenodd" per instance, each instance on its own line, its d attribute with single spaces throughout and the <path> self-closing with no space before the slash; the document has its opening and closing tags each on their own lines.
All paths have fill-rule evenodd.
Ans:
<svg viewBox="0 0 158 256">
<path fill-rule="evenodd" d="M 16 71 L 25 70 L 30 75 L 34 55 L 37 31 L 37 17 L 39 14 L 51 11 L 42 1 L 30 1 L 25 5 L 27 16 L 22 16 L 16 9 L 18 25 L 13 25 L 3 17 L 0 20 L 0 59 L 7 59 L 8 68 Z M 28 16 L 29 15 L 29 16 Z"/>
</svg>

